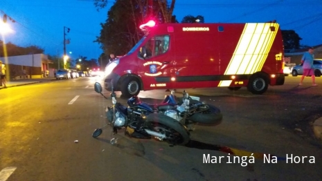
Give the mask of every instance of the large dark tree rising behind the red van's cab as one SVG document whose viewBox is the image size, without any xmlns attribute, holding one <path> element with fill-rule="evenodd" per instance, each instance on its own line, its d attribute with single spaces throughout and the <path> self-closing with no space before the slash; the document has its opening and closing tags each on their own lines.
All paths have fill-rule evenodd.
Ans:
<svg viewBox="0 0 322 181">
<path fill-rule="evenodd" d="M 95 0 L 96 8 L 104 8 L 107 1 Z M 107 64 L 109 54 L 125 55 L 141 37 L 138 28 L 150 19 L 157 23 L 176 22 L 172 16 L 175 0 L 116 0 L 107 12 L 107 20 L 101 23 L 100 36 L 96 42 L 103 50 L 101 58 Z"/>
</svg>

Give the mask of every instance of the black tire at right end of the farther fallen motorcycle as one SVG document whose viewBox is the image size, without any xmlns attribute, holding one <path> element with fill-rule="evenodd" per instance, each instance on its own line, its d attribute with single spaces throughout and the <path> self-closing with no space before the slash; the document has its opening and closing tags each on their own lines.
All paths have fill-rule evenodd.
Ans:
<svg viewBox="0 0 322 181">
<path fill-rule="evenodd" d="M 200 106 L 198 111 L 202 111 L 202 108 L 203 106 Z M 222 121 L 222 113 L 219 108 L 204 104 L 204 109 L 206 109 L 206 111 L 195 113 L 189 116 L 188 120 L 202 124 L 218 124 Z"/>
</svg>

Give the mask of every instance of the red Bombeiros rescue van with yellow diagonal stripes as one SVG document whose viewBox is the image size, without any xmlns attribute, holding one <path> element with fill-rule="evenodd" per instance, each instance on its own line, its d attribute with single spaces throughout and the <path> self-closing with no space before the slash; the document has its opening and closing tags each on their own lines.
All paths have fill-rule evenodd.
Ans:
<svg viewBox="0 0 322 181">
<path fill-rule="evenodd" d="M 241 87 L 253 94 L 284 84 L 278 23 L 163 23 L 105 69 L 105 88 L 126 97 L 140 90 Z"/>
</svg>

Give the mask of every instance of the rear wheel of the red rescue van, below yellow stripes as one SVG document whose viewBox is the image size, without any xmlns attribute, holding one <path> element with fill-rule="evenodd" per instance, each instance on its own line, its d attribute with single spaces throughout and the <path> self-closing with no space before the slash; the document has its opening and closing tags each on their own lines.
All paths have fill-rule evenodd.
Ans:
<svg viewBox="0 0 322 181">
<path fill-rule="evenodd" d="M 267 77 L 260 74 L 251 76 L 247 85 L 247 89 L 249 90 L 249 92 L 256 95 L 265 93 L 267 88 L 268 88 Z"/>
</svg>

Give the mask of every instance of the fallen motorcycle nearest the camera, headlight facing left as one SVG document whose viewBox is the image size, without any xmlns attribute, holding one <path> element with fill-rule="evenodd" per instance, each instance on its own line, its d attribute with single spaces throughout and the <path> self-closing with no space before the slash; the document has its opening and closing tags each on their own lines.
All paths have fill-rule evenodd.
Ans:
<svg viewBox="0 0 322 181">
<path fill-rule="evenodd" d="M 96 93 L 102 95 L 102 86 L 96 82 L 94 85 Z M 105 95 L 102 95 L 105 97 Z M 116 135 L 118 130 L 125 128 L 125 134 L 130 137 L 152 138 L 165 140 L 170 144 L 184 145 L 190 141 L 190 133 L 186 126 L 179 121 L 160 113 L 138 112 L 131 107 L 126 107 L 116 101 L 116 94 L 112 88 L 111 97 L 112 106 L 107 107 L 107 120 L 111 125 L 112 133 Z M 188 99 L 187 99 L 188 100 Z M 187 105 L 185 102 L 184 105 Z M 184 111 L 188 110 L 188 107 Z M 183 111 L 183 112 L 184 112 Z M 102 133 L 102 128 L 96 128 L 93 137 L 98 137 Z M 116 143 L 116 138 L 111 139 L 111 144 Z"/>
</svg>

